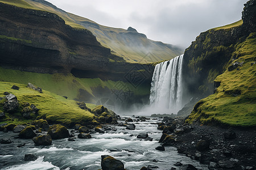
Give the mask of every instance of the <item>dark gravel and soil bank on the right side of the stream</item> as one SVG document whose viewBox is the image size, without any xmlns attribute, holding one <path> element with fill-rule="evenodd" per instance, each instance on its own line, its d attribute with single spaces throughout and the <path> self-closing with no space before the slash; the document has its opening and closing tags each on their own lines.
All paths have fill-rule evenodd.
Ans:
<svg viewBox="0 0 256 170">
<path fill-rule="evenodd" d="M 172 118 L 168 118 L 172 119 Z M 170 123 L 172 122 L 172 123 Z M 256 128 L 234 128 L 221 126 L 207 126 L 195 123 L 184 124 L 183 118 L 166 121 L 166 125 L 176 125 L 176 129 L 189 127 L 181 134 L 170 133 L 175 136 L 175 143 L 181 154 L 196 159 L 200 163 L 209 164 L 209 169 L 255 169 L 256 167 Z M 234 139 L 225 139 L 224 133 L 233 131 Z M 207 141 L 208 149 L 199 151 L 196 144 Z M 224 160 L 229 160 L 225 162 Z M 222 162 L 222 163 L 221 163 Z M 231 165 L 230 165 L 231 164 Z"/>
</svg>

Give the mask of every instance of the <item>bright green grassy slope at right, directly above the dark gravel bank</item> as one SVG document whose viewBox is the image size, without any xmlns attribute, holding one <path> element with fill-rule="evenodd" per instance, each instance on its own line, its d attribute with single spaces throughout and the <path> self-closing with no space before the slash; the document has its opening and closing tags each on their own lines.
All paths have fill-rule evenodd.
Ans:
<svg viewBox="0 0 256 170">
<path fill-rule="evenodd" d="M 221 82 L 216 94 L 210 95 L 197 109 L 194 109 L 187 122 L 199 120 L 203 124 L 224 124 L 229 126 L 256 126 L 256 33 L 251 33 L 245 41 L 235 45 L 232 57 L 239 56 L 243 62 L 238 70 L 226 70 L 217 76 Z M 231 61 L 230 61 L 231 62 Z M 236 94 L 241 91 L 241 95 Z"/>
</svg>

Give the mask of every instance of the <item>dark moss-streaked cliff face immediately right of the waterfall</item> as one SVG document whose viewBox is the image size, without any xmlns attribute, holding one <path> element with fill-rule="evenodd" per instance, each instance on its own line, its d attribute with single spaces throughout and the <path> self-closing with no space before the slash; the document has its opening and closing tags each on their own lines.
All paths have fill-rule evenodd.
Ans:
<svg viewBox="0 0 256 170">
<path fill-rule="evenodd" d="M 213 93 L 213 81 L 228 67 L 236 44 L 255 32 L 255 16 L 255 1 L 249 1 L 243 9 L 241 25 L 237 22 L 234 26 L 202 32 L 185 50 L 184 79 L 191 96 L 205 97 Z"/>
</svg>

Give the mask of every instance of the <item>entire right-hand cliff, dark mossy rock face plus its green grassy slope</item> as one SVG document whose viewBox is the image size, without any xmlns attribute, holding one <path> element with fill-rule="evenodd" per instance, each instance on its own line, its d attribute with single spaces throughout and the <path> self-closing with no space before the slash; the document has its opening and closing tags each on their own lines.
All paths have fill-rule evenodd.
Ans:
<svg viewBox="0 0 256 170">
<path fill-rule="evenodd" d="M 197 103 L 187 122 L 256 126 L 256 3 L 237 23 L 203 32 L 185 50 L 185 74 Z"/>
</svg>

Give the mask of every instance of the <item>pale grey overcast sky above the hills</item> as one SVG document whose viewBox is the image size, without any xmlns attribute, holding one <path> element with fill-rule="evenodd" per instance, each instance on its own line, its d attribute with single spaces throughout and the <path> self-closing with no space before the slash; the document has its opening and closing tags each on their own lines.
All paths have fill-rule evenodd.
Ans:
<svg viewBox="0 0 256 170">
<path fill-rule="evenodd" d="M 241 19 L 247 0 L 47 0 L 101 25 L 188 47 L 200 32 Z"/>
</svg>

